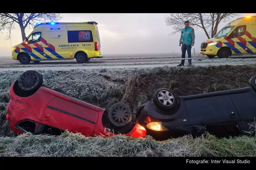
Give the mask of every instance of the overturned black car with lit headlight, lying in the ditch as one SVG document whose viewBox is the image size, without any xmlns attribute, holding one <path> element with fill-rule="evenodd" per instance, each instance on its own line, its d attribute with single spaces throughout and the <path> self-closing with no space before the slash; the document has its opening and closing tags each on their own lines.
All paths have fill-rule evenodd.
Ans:
<svg viewBox="0 0 256 170">
<path fill-rule="evenodd" d="M 156 140 L 205 132 L 218 138 L 255 135 L 256 75 L 249 87 L 176 97 L 166 88 L 156 90 L 151 102 L 143 104 L 136 117 Z"/>
</svg>

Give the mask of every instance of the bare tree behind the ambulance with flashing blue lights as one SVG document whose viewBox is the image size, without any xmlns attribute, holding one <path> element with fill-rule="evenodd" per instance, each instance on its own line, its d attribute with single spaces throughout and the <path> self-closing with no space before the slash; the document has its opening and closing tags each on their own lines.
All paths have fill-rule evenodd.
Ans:
<svg viewBox="0 0 256 170">
<path fill-rule="evenodd" d="M 8 30 L 6 40 L 10 38 L 15 23 L 19 24 L 22 41 L 26 39 L 25 28 L 31 28 L 37 22 L 58 21 L 62 18 L 60 13 L 0 13 L 0 31 Z M 3 32 L 2 32 L 3 33 Z"/>
</svg>

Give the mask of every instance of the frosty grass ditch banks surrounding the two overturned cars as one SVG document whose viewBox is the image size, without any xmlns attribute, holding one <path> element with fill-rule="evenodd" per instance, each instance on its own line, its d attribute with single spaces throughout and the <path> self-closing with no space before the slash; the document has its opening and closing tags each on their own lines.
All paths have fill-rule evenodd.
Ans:
<svg viewBox="0 0 256 170">
<path fill-rule="evenodd" d="M 210 67 L 157 67 L 100 70 L 40 71 L 44 84 L 61 88 L 80 100 L 109 108 L 127 103 L 135 113 L 152 101 L 158 88 L 169 88 L 178 96 L 247 87 L 256 65 Z M 24 134 L 15 136 L 6 121 L 8 90 L 23 71 L 0 72 L 0 156 L 256 156 L 256 140 L 241 136 L 217 139 L 208 135 L 185 136 L 158 142 L 124 136 L 86 138 L 80 134 L 61 136 Z"/>
</svg>

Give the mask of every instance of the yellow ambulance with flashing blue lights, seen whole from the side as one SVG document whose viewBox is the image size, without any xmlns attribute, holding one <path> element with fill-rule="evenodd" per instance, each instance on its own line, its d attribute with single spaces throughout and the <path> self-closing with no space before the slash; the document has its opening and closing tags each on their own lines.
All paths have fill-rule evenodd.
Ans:
<svg viewBox="0 0 256 170">
<path fill-rule="evenodd" d="M 74 60 L 84 63 L 102 58 L 97 22 L 37 23 L 21 43 L 12 48 L 12 59 L 30 61 Z"/>
</svg>

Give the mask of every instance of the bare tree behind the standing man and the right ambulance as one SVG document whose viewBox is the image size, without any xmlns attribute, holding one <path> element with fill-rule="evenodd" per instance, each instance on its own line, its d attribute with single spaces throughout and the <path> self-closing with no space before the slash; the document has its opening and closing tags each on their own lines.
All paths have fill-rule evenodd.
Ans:
<svg viewBox="0 0 256 170">
<path fill-rule="evenodd" d="M 191 27 L 203 29 L 208 39 L 210 39 L 210 37 L 212 38 L 217 34 L 219 23 L 227 22 L 230 17 L 239 15 L 236 13 L 172 13 L 165 17 L 165 21 L 167 26 L 172 26 L 174 29 L 170 35 L 180 32 L 185 21 L 188 20 Z"/>
</svg>

